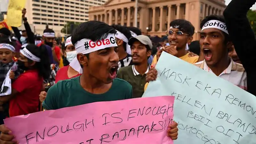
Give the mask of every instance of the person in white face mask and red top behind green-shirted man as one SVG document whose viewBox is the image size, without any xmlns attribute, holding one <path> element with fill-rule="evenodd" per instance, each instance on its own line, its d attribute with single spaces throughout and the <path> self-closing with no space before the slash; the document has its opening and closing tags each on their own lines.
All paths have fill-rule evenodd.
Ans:
<svg viewBox="0 0 256 144">
<path fill-rule="evenodd" d="M 64 54 L 67 55 L 68 62 L 71 62 L 73 59 L 76 58 L 76 50 L 75 46 L 71 42 L 71 36 L 66 39 L 65 48 L 66 50 Z M 78 74 L 78 72 L 75 69 L 68 65 L 58 70 L 55 78 L 55 83 L 57 83 L 60 80 L 66 80 L 80 75 L 81 74 Z M 43 102 L 46 98 L 46 95 L 47 92 L 42 91 L 39 95 L 39 100 Z"/>
</svg>

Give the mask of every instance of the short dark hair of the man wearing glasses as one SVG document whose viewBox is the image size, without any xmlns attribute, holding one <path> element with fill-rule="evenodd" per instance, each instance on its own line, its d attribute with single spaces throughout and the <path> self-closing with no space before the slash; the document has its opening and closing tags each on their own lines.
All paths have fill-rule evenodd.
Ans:
<svg viewBox="0 0 256 144">
<path fill-rule="evenodd" d="M 195 27 L 188 20 L 177 19 L 170 22 L 170 27 L 178 28 L 179 30 L 187 33 L 189 36 L 193 36 L 195 33 Z"/>
</svg>

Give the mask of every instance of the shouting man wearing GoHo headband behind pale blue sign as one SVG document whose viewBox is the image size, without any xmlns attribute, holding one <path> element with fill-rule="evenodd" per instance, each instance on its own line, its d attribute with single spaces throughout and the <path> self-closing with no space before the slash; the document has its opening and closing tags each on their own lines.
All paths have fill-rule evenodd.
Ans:
<svg viewBox="0 0 256 144">
<path fill-rule="evenodd" d="M 195 65 L 232 84 L 247 90 L 247 79 L 244 67 L 228 57 L 228 49 L 232 42 L 223 16 L 210 15 L 200 24 L 200 49 L 204 53 L 204 61 Z"/>
</svg>

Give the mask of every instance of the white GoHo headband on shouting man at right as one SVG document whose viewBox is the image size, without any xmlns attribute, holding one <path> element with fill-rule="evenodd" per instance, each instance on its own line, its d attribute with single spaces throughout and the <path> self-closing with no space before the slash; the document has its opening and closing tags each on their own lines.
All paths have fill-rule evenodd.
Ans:
<svg viewBox="0 0 256 144">
<path fill-rule="evenodd" d="M 217 29 L 220 29 L 220 30 L 222 30 L 222 31 L 224 31 L 225 33 L 228 34 L 226 24 L 224 22 L 219 21 L 219 20 L 209 20 L 209 21 L 207 21 L 204 24 L 204 26 L 202 28 L 202 31 L 206 28 L 217 28 Z"/>
</svg>

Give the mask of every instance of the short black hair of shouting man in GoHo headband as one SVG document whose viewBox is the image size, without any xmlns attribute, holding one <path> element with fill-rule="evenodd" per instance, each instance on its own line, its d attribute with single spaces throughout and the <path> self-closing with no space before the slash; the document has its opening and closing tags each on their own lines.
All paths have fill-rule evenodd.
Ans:
<svg viewBox="0 0 256 144">
<path fill-rule="evenodd" d="M 225 18 L 224 16 L 220 16 L 220 15 L 215 15 L 215 14 L 212 14 L 212 15 L 209 15 L 207 17 L 204 18 L 204 20 L 201 21 L 201 24 L 200 24 L 200 28 L 202 29 L 204 24 L 209 21 L 209 20 L 219 20 L 221 22 L 224 22 L 225 23 Z M 224 31 L 221 31 L 224 36 L 225 36 L 225 40 L 224 40 L 224 43 L 228 43 L 229 41 L 231 41 L 229 35 L 227 33 L 225 33 Z"/>
</svg>

